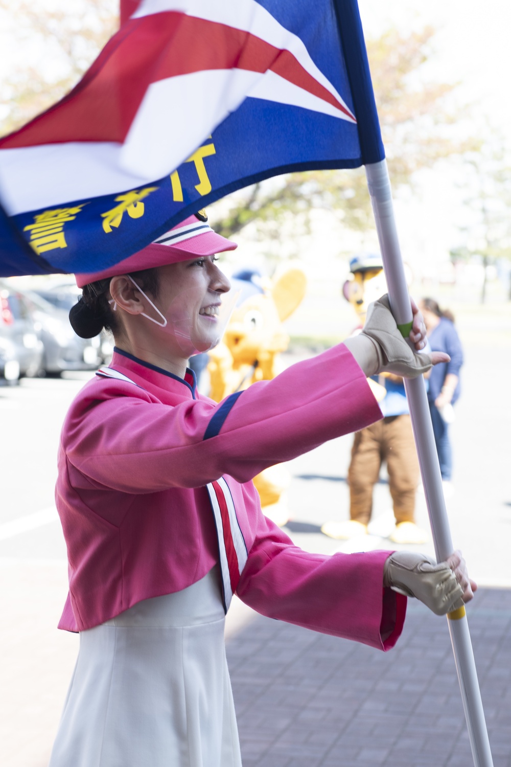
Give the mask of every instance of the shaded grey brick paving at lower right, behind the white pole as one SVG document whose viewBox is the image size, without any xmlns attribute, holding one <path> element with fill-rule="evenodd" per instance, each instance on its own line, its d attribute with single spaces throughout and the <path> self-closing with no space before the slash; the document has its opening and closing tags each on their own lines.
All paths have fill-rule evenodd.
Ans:
<svg viewBox="0 0 511 767">
<path fill-rule="evenodd" d="M 467 609 L 495 767 L 511 767 L 511 591 Z M 390 653 L 257 616 L 228 641 L 244 767 L 470 767 L 446 619 Z"/>
</svg>

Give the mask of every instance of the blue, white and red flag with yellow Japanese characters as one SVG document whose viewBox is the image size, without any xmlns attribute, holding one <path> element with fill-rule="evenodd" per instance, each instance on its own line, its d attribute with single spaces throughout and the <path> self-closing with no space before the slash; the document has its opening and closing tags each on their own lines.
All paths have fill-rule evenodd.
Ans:
<svg viewBox="0 0 511 767">
<path fill-rule="evenodd" d="M 0 276 L 97 272 L 243 186 L 385 156 L 356 0 L 125 3 L 0 140 Z"/>
</svg>

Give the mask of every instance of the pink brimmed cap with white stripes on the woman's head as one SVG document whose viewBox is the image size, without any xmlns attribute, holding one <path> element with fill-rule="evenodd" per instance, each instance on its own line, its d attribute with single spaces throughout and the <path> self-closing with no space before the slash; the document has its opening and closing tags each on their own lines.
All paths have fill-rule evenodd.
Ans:
<svg viewBox="0 0 511 767">
<path fill-rule="evenodd" d="M 195 255 L 215 255 L 215 253 L 237 248 L 236 242 L 225 239 L 211 229 L 205 214 L 201 212 L 199 215 L 201 218 L 195 215 L 188 216 L 188 219 L 169 229 L 169 232 L 165 232 L 142 250 L 103 269 L 102 272 L 74 275 L 78 287 L 83 288 L 90 282 L 103 280 L 106 277 L 188 261 Z"/>
</svg>

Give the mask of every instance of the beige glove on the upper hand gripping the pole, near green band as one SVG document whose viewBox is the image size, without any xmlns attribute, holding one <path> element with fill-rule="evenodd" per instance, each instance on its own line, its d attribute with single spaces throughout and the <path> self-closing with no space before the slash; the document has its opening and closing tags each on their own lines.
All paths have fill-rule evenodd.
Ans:
<svg viewBox="0 0 511 767">
<path fill-rule="evenodd" d="M 388 295 L 369 304 L 362 335 L 375 344 L 378 354 L 378 373 L 394 373 L 415 378 L 432 367 L 430 354 L 419 354 L 411 349 L 398 331 L 390 311 Z"/>
</svg>

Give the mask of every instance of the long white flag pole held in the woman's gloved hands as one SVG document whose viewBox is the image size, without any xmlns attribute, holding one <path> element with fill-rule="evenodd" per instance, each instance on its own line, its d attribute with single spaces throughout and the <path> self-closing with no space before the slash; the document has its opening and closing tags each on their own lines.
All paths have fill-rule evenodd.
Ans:
<svg viewBox="0 0 511 767">
<path fill-rule="evenodd" d="M 412 314 L 395 225 L 386 160 L 379 163 L 368 163 L 365 166 L 365 174 L 371 195 L 372 209 L 375 214 L 378 240 L 382 250 L 383 268 L 392 314 L 395 316 L 401 333 L 408 336 L 411 329 Z M 434 550 L 437 561 L 445 561 L 453 551 L 453 543 L 450 537 L 440 464 L 434 443 L 433 426 L 423 377 L 405 379 L 405 390 L 421 466 Z M 467 721 L 473 763 L 475 767 L 493 767 L 465 608 L 460 607 L 459 610 L 449 613 L 447 624 L 453 646 L 458 682 L 460 683 L 461 700 Z"/>
</svg>

